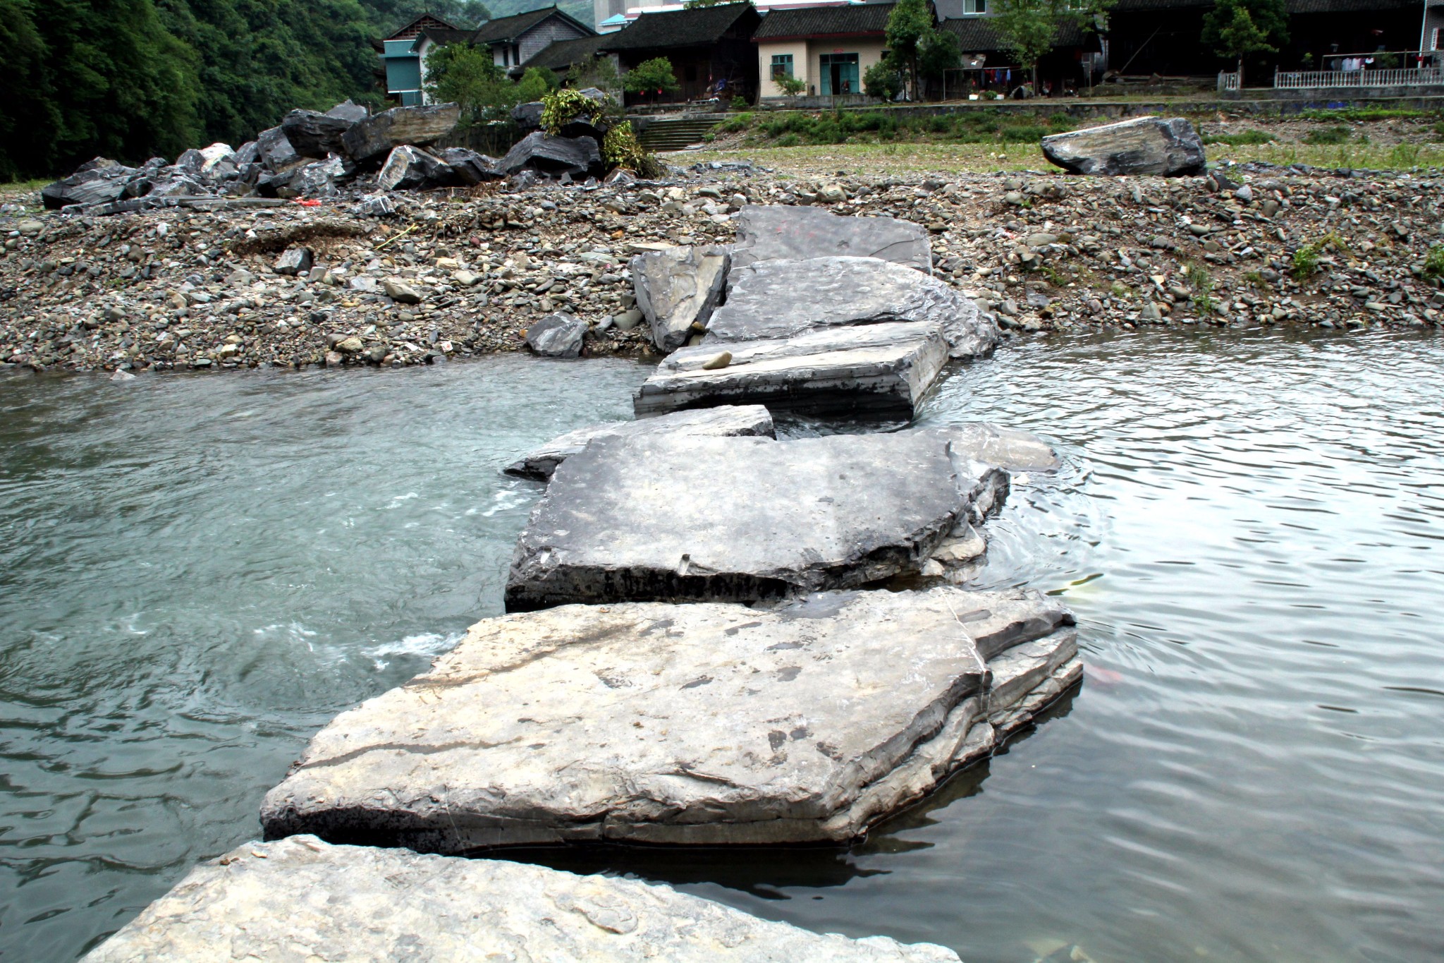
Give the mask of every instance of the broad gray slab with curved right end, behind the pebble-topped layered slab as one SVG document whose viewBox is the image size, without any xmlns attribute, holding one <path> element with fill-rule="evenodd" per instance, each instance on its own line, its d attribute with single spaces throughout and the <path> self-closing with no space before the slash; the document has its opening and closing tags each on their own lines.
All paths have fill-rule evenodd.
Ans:
<svg viewBox="0 0 1444 963">
<path fill-rule="evenodd" d="M 734 269 L 726 289 L 705 344 L 897 321 L 941 325 L 953 358 L 985 355 L 998 341 L 998 326 L 960 290 L 877 257 L 757 261 Z"/>
</svg>

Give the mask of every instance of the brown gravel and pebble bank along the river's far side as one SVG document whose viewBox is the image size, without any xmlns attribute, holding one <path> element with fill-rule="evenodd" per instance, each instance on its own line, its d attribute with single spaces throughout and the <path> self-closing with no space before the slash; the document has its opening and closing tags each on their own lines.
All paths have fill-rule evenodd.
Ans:
<svg viewBox="0 0 1444 963">
<path fill-rule="evenodd" d="M 676 157 L 673 157 L 676 159 Z M 1005 335 L 1158 325 L 1444 323 L 1444 178 L 1243 165 L 1184 178 L 869 175 L 747 163 L 667 179 L 393 195 L 391 212 L 0 211 L 0 365 L 166 371 L 409 365 L 526 345 L 546 315 L 582 354 L 653 352 L 628 261 L 729 244 L 744 205 L 926 230 L 934 274 Z"/>
</svg>

